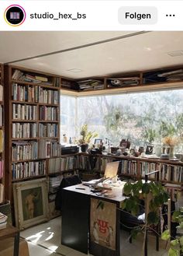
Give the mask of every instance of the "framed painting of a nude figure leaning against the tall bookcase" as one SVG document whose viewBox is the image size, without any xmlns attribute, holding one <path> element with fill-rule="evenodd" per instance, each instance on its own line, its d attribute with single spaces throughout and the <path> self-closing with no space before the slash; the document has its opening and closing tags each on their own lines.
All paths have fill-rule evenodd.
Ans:
<svg viewBox="0 0 183 256">
<path fill-rule="evenodd" d="M 48 219 L 45 178 L 13 184 L 16 226 L 19 230 Z"/>
</svg>

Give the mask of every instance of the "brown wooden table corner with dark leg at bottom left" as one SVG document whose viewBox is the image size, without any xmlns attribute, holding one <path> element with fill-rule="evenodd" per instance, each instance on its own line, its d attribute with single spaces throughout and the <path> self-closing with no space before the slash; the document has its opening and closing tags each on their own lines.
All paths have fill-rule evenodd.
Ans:
<svg viewBox="0 0 183 256">
<path fill-rule="evenodd" d="M 0 240 L 8 237 L 14 237 L 14 256 L 19 256 L 19 230 L 14 226 L 9 226 L 0 230 Z"/>
</svg>

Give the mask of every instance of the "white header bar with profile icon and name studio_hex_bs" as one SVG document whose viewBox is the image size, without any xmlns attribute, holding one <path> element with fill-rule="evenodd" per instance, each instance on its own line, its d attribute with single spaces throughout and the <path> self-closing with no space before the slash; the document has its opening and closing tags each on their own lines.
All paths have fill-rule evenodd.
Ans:
<svg viewBox="0 0 183 256">
<path fill-rule="evenodd" d="M 183 1 L 3 1 L 0 30 L 183 30 Z"/>
</svg>

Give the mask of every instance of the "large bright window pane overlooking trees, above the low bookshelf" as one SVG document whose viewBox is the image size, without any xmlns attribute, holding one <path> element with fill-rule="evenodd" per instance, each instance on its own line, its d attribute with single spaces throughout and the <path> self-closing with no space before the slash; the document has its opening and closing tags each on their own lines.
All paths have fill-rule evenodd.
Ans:
<svg viewBox="0 0 183 256">
<path fill-rule="evenodd" d="M 183 89 L 78 97 L 77 127 L 87 123 L 98 138 L 109 138 L 114 146 L 121 139 L 133 146 L 161 143 L 167 135 L 182 135 L 182 99 Z"/>
</svg>

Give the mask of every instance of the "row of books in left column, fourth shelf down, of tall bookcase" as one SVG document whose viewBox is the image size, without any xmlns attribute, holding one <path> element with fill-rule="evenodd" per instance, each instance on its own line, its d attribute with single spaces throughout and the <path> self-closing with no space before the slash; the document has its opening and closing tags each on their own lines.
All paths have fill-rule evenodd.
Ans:
<svg viewBox="0 0 183 256">
<path fill-rule="evenodd" d="M 12 124 L 12 138 L 36 138 L 37 124 L 35 123 L 13 123 Z"/>
</svg>

